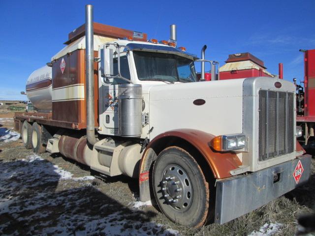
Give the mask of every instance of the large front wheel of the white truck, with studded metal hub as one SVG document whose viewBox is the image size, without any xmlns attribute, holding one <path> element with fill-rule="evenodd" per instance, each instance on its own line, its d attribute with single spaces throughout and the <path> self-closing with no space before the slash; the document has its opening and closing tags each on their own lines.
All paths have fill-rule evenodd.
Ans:
<svg viewBox="0 0 315 236">
<path fill-rule="evenodd" d="M 209 186 L 195 159 L 184 149 L 161 151 L 153 167 L 153 189 L 161 211 L 172 221 L 201 227 L 209 210 Z"/>
</svg>

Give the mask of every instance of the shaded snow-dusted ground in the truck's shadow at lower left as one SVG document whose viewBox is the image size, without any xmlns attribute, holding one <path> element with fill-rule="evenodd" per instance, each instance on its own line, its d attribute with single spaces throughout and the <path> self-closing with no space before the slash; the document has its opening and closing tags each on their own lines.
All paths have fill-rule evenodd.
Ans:
<svg viewBox="0 0 315 236">
<path fill-rule="evenodd" d="M 0 235 L 179 235 L 38 155 L 0 161 Z M 147 206 L 143 203 L 141 206 Z"/>
</svg>

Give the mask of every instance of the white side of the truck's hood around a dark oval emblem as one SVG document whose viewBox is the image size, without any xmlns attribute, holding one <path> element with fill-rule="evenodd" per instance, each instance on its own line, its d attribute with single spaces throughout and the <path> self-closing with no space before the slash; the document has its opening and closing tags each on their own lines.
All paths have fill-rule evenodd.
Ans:
<svg viewBox="0 0 315 236">
<path fill-rule="evenodd" d="M 242 133 L 243 81 L 224 80 L 152 86 L 150 139 L 179 128 L 213 135 Z M 195 105 L 203 99 L 203 105 Z"/>
</svg>

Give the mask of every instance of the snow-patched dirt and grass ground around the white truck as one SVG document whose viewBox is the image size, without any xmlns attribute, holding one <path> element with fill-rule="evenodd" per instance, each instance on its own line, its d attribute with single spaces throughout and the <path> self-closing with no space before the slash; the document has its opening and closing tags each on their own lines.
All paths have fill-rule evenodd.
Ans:
<svg viewBox="0 0 315 236">
<path fill-rule="evenodd" d="M 1 115 L 1 128 L 11 129 L 12 117 Z M 306 185 L 221 226 L 179 226 L 146 205 L 136 179 L 91 173 L 60 154 L 34 155 L 21 139 L 0 140 L 0 235 L 291 236 L 296 218 L 315 207 L 315 159 Z"/>
</svg>

